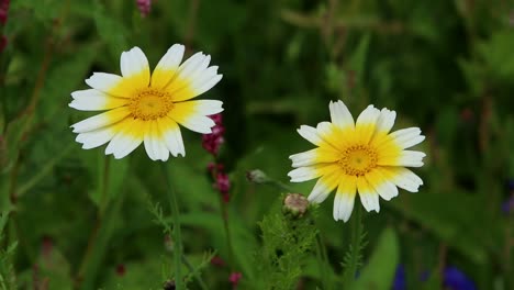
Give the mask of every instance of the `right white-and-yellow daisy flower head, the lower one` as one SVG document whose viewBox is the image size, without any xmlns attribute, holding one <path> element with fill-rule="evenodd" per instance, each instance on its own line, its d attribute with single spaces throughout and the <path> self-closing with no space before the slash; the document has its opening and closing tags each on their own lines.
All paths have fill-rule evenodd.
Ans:
<svg viewBox="0 0 514 290">
<path fill-rule="evenodd" d="M 289 157 L 295 168 L 288 174 L 291 182 L 320 178 L 309 201 L 321 203 L 336 189 L 334 220 L 347 222 L 357 192 L 368 212 L 379 212 L 379 197 L 396 197 L 396 187 L 417 191 L 423 181 L 405 167 L 423 166 L 424 153 L 406 150 L 425 140 L 418 127 L 390 133 L 396 113 L 386 108 L 369 105 L 356 122 L 342 101 L 331 101 L 328 108 L 332 122 L 298 130 L 317 147 Z"/>
</svg>

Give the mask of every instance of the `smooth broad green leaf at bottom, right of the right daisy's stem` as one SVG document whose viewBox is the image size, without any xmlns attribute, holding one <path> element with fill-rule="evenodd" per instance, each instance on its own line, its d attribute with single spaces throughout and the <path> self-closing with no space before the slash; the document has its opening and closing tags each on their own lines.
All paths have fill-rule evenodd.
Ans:
<svg viewBox="0 0 514 290">
<path fill-rule="evenodd" d="M 398 237 L 391 227 L 386 228 L 369 259 L 368 265 L 357 279 L 355 290 L 388 290 L 394 280 L 399 263 Z"/>
</svg>

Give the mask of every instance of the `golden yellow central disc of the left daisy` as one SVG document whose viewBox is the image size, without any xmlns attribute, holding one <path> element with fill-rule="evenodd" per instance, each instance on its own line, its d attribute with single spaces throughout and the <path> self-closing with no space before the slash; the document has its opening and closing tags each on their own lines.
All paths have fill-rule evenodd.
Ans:
<svg viewBox="0 0 514 290">
<path fill-rule="evenodd" d="M 132 116 L 144 121 L 160 119 L 174 109 L 171 96 L 161 90 L 145 88 L 137 91 L 128 101 Z"/>
</svg>

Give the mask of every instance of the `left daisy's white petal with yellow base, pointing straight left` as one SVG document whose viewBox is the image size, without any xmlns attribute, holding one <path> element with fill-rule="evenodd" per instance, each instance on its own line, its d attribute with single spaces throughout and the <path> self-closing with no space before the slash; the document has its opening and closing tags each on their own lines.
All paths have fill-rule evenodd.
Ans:
<svg viewBox="0 0 514 290">
<path fill-rule="evenodd" d="M 96 89 L 74 91 L 71 97 L 74 100 L 69 103 L 69 107 L 80 111 L 103 111 L 127 103 L 124 98 L 111 97 Z"/>
</svg>

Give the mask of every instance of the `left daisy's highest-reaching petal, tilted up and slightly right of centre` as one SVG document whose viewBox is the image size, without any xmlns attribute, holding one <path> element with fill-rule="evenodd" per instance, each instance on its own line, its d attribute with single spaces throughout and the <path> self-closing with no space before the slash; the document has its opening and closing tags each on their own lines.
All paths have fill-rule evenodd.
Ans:
<svg viewBox="0 0 514 290">
<path fill-rule="evenodd" d="M 174 44 L 169 47 L 152 74 L 152 87 L 165 88 L 174 79 L 182 62 L 185 51 L 186 47 L 181 44 Z"/>
</svg>

